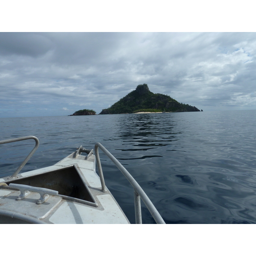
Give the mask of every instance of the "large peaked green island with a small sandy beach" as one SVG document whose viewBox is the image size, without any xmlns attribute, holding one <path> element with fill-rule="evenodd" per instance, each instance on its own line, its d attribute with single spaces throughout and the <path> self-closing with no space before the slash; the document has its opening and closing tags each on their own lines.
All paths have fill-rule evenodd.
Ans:
<svg viewBox="0 0 256 256">
<path fill-rule="evenodd" d="M 99 115 L 138 112 L 190 112 L 200 111 L 195 106 L 177 102 L 170 96 L 152 93 L 147 84 L 139 84 L 136 90 L 114 103 L 110 108 L 102 109 Z"/>
</svg>

